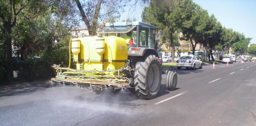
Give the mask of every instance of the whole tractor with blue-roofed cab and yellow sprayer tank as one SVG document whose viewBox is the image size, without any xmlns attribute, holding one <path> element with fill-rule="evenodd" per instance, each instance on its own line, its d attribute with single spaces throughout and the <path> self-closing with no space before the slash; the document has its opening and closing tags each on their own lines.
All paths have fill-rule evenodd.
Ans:
<svg viewBox="0 0 256 126">
<path fill-rule="evenodd" d="M 70 38 L 69 67 L 54 64 L 57 76 L 51 80 L 96 92 L 129 86 L 139 98 L 152 99 L 160 91 L 162 74 L 167 74 L 166 87 L 175 90 L 177 73 L 162 71 L 154 30 L 142 22 L 104 23 L 97 36 Z M 70 68 L 71 57 L 75 69 Z"/>
</svg>

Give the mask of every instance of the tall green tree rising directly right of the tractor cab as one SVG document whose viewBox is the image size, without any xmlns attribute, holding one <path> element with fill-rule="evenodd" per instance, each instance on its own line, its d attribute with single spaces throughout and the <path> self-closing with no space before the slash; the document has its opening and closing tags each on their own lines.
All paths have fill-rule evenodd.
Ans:
<svg viewBox="0 0 256 126">
<path fill-rule="evenodd" d="M 172 47 L 172 61 L 174 62 L 174 48 L 179 45 L 176 39 L 176 32 L 180 31 L 182 1 L 163 0 L 150 1 L 148 7 L 144 8 L 142 21 L 152 24 L 158 31 L 163 31 L 162 42 L 167 47 Z M 179 33 L 179 32 L 178 32 Z"/>
</svg>

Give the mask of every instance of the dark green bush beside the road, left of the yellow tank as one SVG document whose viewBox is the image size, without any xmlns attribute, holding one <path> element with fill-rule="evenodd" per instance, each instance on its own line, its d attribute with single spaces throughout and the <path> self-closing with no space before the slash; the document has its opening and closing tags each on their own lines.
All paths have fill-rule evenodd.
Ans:
<svg viewBox="0 0 256 126">
<path fill-rule="evenodd" d="M 68 66 L 68 41 L 67 37 L 61 38 L 56 46 L 48 46 L 39 59 L 25 59 L 24 66 L 19 70 L 18 78 L 26 81 L 54 77 L 53 64 Z"/>
</svg>

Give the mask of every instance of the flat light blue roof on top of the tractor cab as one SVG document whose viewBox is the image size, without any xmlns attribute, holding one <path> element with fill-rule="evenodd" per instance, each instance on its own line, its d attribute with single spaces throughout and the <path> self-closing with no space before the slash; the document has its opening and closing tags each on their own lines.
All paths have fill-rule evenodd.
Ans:
<svg viewBox="0 0 256 126">
<path fill-rule="evenodd" d="M 155 29 L 155 26 L 143 23 L 143 22 L 114 22 L 114 26 L 127 26 L 129 23 L 131 23 L 132 26 L 144 26 L 149 27 L 151 29 Z M 111 23 L 112 24 L 112 23 Z M 110 26 L 110 23 L 106 23 L 105 26 Z"/>
</svg>

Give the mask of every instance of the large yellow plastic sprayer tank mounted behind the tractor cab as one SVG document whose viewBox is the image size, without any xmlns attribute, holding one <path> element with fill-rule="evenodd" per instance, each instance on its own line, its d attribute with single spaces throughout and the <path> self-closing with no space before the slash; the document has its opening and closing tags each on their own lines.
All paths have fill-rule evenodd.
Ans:
<svg viewBox="0 0 256 126">
<path fill-rule="evenodd" d="M 79 40 L 80 50 L 72 50 L 76 69 L 83 70 L 118 70 L 125 67 L 125 62 L 128 59 L 127 44 L 124 38 L 117 36 L 88 36 L 73 38 Z M 76 43 L 75 43 L 76 44 Z"/>
</svg>

